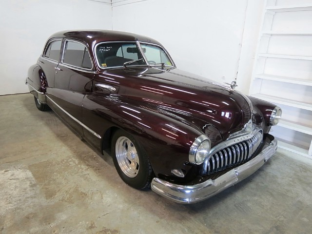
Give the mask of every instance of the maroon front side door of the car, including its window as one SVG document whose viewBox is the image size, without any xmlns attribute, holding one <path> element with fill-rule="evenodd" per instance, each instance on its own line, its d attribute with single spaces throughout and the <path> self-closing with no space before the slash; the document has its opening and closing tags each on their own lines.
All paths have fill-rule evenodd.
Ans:
<svg viewBox="0 0 312 234">
<path fill-rule="evenodd" d="M 81 41 L 65 39 L 51 98 L 58 114 L 83 136 L 82 101 L 91 92 L 95 69 L 89 49 Z"/>
</svg>

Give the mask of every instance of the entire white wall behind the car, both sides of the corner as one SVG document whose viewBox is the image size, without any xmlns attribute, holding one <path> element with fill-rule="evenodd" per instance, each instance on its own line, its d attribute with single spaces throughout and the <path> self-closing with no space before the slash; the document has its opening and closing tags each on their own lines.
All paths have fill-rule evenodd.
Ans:
<svg viewBox="0 0 312 234">
<path fill-rule="evenodd" d="M 264 1 L 2 0 L 0 95 L 24 85 L 46 39 L 65 29 L 113 29 L 159 40 L 178 68 L 248 93 Z"/>
</svg>

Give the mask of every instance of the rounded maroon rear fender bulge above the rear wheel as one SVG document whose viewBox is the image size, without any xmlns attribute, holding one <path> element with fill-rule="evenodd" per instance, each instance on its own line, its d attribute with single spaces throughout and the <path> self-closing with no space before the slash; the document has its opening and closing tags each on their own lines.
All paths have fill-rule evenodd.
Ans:
<svg viewBox="0 0 312 234">
<path fill-rule="evenodd" d="M 40 102 L 46 103 L 45 93 L 47 79 L 38 64 L 32 65 L 28 69 L 28 76 L 25 82 L 28 86 L 29 92 L 38 98 Z"/>
</svg>

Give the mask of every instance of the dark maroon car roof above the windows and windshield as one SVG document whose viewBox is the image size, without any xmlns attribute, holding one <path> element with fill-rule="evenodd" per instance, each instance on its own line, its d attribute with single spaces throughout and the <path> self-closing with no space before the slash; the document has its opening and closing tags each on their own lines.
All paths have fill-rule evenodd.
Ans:
<svg viewBox="0 0 312 234">
<path fill-rule="evenodd" d="M 92 45 L 97 44 L 98 42 L 104 41 L 136 41 L 136 40 L 161 45 L 155 39 L 151 39 L 133 33 L 112 30 L 66 30 L 53 34 L 48 40 L 53 38 L 64 38 L 64 37 L 84 41 L 87 44 L 89 44 L 89 47 L 92 47 Z"/>
</svg>

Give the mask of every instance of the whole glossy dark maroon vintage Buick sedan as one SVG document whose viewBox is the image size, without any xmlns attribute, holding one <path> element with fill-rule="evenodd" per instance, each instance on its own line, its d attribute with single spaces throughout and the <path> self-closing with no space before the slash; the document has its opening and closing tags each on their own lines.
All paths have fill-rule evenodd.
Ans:
<svg viewBox="0 0 312 234">
<path fill-rule="evenodd" d="M 154 39 L 116 31 L 52 35 L 26 84 L 136 189 L 181 203 L 215 195 L 276 151 L 281 109 L 181 71 Z"/>
</svg>

